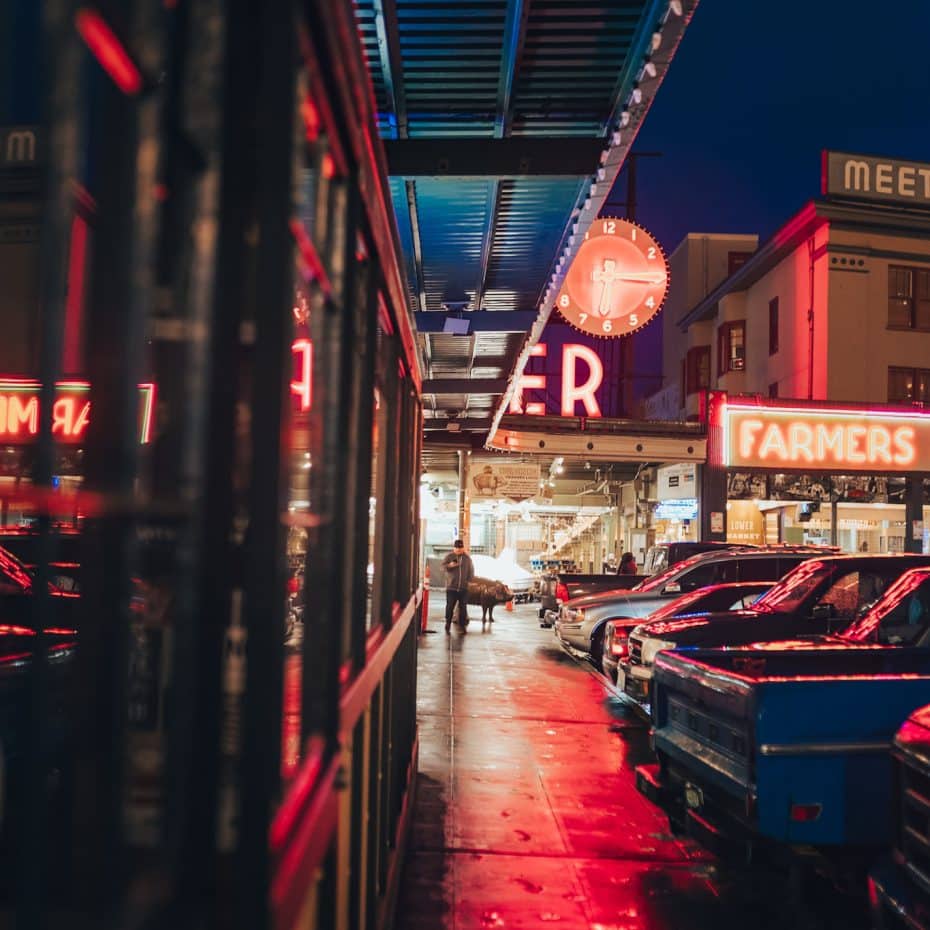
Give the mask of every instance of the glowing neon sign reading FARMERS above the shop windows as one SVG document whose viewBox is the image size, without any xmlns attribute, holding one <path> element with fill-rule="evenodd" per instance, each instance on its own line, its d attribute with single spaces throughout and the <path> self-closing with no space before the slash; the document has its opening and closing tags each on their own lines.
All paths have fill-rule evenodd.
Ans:
<svg viewBox="0 0 930 930">
<path fill-rule="evenodd" d="M 895 472 L 930 462 L 930 416 L 724 405 L 724 465 Z"/>
</svg>

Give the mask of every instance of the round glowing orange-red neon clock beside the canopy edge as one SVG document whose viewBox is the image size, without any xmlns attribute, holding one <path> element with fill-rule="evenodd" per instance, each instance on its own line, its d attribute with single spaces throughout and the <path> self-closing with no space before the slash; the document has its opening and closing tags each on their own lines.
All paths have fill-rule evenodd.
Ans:
<svg viewBox="0 0 930 930">
<path fill-rule="evenodd" d="M 585 234 L 555 305 L 591 336 L 628 336 L 661 309 L 668 262 L 652 236 L 629 220 L 603 217 Z"/>
</svg>

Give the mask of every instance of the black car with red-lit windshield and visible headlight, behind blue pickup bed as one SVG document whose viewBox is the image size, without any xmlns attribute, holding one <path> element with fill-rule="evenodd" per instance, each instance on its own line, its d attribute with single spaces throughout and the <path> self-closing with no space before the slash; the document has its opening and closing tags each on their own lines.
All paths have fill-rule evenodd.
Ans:
<svg viewBox="0 0 930 930">
<path fill-rule="evenodd" d="M 930 556 L 859 554 L 808 559 L 751 610 L 650 620 L 630 634 L 629 656 L 620 664 L 618 685 L 635 700 L 648 702 L 652 664 L 663 649 L 738 646 L 843 632 L 904 572 L 919 566 L 930 566 Z"/>
</svg>

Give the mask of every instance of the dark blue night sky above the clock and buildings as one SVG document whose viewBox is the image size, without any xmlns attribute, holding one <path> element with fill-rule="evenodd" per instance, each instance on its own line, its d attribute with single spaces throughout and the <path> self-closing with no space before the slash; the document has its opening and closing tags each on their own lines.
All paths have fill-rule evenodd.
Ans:
<svg viewBox="0 0 930 930">
<path fill-rule="evenodd" d="M 928 42 L 926 0 L 701 0 L 634 146 L 663 153 L 637 219 L 667 251 L 764 241 L 818 195 L 823 148 L 930 161 Z"/>
</svg>

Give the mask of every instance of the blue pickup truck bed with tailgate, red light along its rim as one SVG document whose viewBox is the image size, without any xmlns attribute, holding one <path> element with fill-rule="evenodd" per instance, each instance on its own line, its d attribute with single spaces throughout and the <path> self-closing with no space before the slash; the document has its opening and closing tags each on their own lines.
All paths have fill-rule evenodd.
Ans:
<svg viewBox="0 0 930 930">
<path fill-rule="evenodd" d="M 718 852 L 767 846 L 789 859 L 867 862 L 891 842 L 892 740 L 928 702 L 925 649 L 663 652 L 658 761 L 637 768 L 637 788 Z"/>
</svg>

